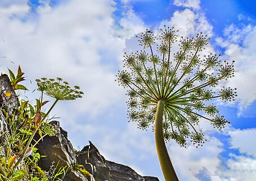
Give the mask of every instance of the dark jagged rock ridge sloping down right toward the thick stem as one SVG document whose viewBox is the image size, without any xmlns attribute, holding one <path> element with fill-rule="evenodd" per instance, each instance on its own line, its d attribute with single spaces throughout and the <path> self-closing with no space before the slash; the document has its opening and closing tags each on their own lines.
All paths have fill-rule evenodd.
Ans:
<svg viewBox="0 0 256 181">
<path fill-rule="evenodd" d="M 70 167 L 65 180 L 159 181 L 155 177 L 141 176 L 128 166 L 105 160 L 91 141 L 80 152 L 75 152 L 67 139 L 67 132 L 59 127 L 59 122 L 54 121 L 51 124 L 56 126 L 58 133 L 52 137 L 45 136 L 44 140 L 37 145 L 41 156 L 46 156 L 39 160 L 39 166 L 42 169 L 49 170 L 52 161 L 54 161 L 59 162 L 58 167 L 66 165 Z M 83 165 L 90 175 L 82 175 L 76 169 L 76 165 Z"/>
</svg>

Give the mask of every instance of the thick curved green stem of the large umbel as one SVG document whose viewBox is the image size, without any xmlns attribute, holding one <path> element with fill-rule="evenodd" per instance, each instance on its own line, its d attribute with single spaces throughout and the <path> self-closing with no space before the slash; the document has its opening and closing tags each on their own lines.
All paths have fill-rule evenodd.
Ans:
<svg viewBox="0 0 256 181">
<path fill-rule="evenodd" d="M 155 118 L 155 142 L 156 150 L 159 158 L 160 166 L 164 174 L 165 181 L 178 181 L 178 177 L 170 161 L 167 148 L 164 143 L 163 135 L 163 115 L 165 102 L 160 100 L 157 103 L 156 118 Z"/>
</svg>

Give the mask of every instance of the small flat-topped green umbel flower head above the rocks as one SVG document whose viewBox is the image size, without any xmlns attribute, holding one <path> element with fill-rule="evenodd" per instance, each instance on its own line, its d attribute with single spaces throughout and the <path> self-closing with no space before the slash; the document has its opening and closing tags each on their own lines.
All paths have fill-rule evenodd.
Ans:
<svg viewBox="0 0 256 181">
<path fill-rule="evenodd" d="M 56 98 L 56 100 L 75 100 L 76 98 L 82 98 L 82 91 L 79 91 L 79 86 L 71 88 L 66 81 L 62 82 L 62 78 L 57 77 L 55 79 L 47 79 L 45 77 L 37 79 L 38 90 L 46 95 Z"/>
</svg>

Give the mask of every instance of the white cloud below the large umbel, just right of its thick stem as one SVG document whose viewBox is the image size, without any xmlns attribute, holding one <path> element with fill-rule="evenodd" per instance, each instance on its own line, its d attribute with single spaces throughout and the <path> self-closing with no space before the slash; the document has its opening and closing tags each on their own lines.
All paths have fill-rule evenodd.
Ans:
<svg viewBox="0 0 256 181">
<path fill-rule="evenodd" d="M 198 173 L 203 167 L 206 167 L 210 173 L 214 173 L 220 163 L 217 157 L 223 150 L 221 148 L 222 145 L 215 138 L 211 138 L 210 141 L 200 148 L 189 146 L 187 149 L 184 149 L 177 144 L 170 145 L 170 158 L 179 175 L 179 179 L 187 181 L 198 180 L 192 175 Z"/>
</svg>

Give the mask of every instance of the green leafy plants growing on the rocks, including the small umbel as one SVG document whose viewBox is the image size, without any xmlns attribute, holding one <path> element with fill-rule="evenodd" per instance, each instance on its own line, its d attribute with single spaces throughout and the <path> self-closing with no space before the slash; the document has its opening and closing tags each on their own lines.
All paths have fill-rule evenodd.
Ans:
<svg viewBox="0 0 256 181">
<path fill-rule="evenodd" d="M 14 90 L 27 90 L 24 85 L 18 84 L 24 80 L 24 73 L 20 67 L 16 76 L 11 70 L 9 70 L 9 73 Z M 61 167 L 56 170 L 58 164 L 54 166 L 53 163 L 49 171 L 41 170 L 37 165 L 41 156 L 36 152 L 35 145 L 46 135 L 54 136 L 57 133 L 55 127 L 48 124 L 50 120 L 49 113 L 57 102 L 81 98 L 83 92 L 79 91 L 80 88 L 78 86 L 71 88 L 66 81 L 62 82 L 59 77 L 57 80 L 41 78 L 36 81 L 37 91 L 41 93 L 40 98 L 36 99 L 36 105 L 31 105 L 30 100 L 19 100 L 20 106 L 16 107 L 15 113 L 12 115 L 8 113 L 8 109 L 5 106 L 1 107 L 1 112 L 8 127 L 8 131 L 0 135 L 0 178 L 3 181 L 59 180 L 59 178 L 65 176 L 68 169 L 67 167 Z M 3 91 L 6 92 L 5 96 L 13 97 L 10 92 Z M 42 107 L 49 101 L 44 101 L 44 95 L 55 99 L 50 109 L 45 111 L 46 113 L 42 110 Z M 37 132 L 40 135 L 40 139 L 34 140 Z"/>
</svg>

